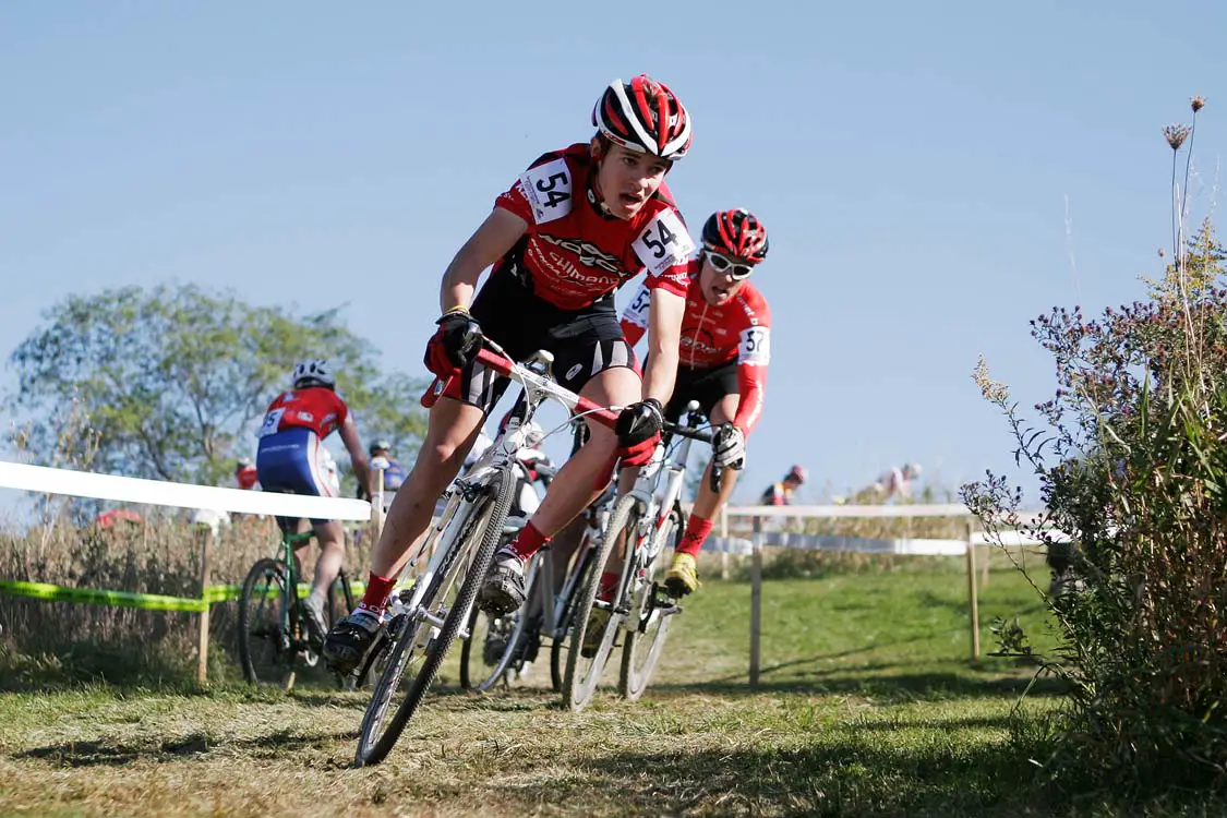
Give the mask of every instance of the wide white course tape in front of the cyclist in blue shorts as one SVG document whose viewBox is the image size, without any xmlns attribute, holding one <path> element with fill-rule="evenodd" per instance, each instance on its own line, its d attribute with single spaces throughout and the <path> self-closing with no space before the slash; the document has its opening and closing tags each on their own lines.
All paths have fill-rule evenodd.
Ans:
<svg viewBox="0 0 1227 818">
<path fill-rule="evenodd" d="M 366 500 L 166 483 L 137 477 L 27 466 L 2 460 L 0 460 L 0 488 L 239 514 L 270 514 L 315 520 L 371 519 L 371 504 Z"/>
</svg>

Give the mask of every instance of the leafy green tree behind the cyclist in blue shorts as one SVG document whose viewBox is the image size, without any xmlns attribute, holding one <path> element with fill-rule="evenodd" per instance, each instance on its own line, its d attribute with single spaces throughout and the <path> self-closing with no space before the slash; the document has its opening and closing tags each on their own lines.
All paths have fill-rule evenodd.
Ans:
<svg viewBox="0 0 1227 818">
<path fill-rule="evenodd" d="M 363 437 L 410 446 L 425 430 L 413 381 L 382 374 L 374 347 L 339 312 L 294 315 L 195 285 L 70 296 L 10 356 L 18 385 L 5 402 L 27 419 L 37 462 L 63 455 L 55 418 L 75 406 L 97 437 L 98 471 L 215 483 L 249 453 L 293 363 L 329 358 Z"/>
</svg>

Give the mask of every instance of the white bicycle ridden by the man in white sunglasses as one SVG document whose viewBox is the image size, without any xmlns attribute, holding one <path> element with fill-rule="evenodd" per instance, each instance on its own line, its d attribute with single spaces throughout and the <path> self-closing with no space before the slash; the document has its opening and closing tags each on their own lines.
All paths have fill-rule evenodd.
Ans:
<svg viewBox="0 0 1227 818">
<path fill-rule="evenodd" d="M 682 424 L 666 422 L 652 461 L 639 470 L 634 488 L 614 505 L 593 557 L 601 569 L 587 574 L 571 628 L 562 700 L 572 710 L 591 701 L 620 632 L 625 633 L 618 673 L 622 697 L 634 701 L 643 695 L 660 661 L 669 624 L 681 606 L 656 583 L 656 558 L 665 546 L 677 545 L 686 527 L 680 499 L 691 441 L 712 443 L 712 432 L 698 428 L 703 422 L 696 401 L 686 408 Z M 674 443 L 674 437 L 681 440 Z M 713 464 L 713 487 L 719 486 L 721 472 Z M 602 595 L 602 574 L 616 568 L 621 571 L 617 586 Z M 589 635 L 590 628 L 600 634 Z"/>
</svg>

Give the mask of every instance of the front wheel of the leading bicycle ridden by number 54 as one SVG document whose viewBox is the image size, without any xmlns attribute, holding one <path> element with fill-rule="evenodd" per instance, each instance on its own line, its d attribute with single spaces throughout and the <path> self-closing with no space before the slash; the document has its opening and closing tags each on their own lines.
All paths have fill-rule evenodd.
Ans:
<svg viewBox="0 0 1227 818">
<path fill-rule="evenodd" d="M 502 537 L 514 487 L 514 480 L 509 480 L 508 475 L 499 475 L 490 484 L 487 493 L 469 506 L 464 519 L 453 519 L 448 524 L 449 529 L 460 526 L 460 536 L 448 549 L 431 586 L 422 595 L 418 610 L 405 614 L 405 621 L 398 628 L 387 667 L 362 719 L 355 766 L 378 764 L 387 758 L 405 725 L 417 711 L 456 632 L 467 621 L 477 589 Z M 432 619 L 442 619 L 442 625 L 433 624 Z M 391 628 L 389 635 L 390 632 Z M 421 666 L 412 675 L 389 719 L 401 681 L 409 676 L 406 671 L 416 660 L 421 660 Z"/>
</svg>

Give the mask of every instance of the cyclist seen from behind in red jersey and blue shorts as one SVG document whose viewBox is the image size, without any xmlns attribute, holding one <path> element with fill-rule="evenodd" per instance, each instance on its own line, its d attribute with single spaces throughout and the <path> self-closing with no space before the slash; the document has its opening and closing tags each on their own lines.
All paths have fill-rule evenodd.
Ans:
<svg viewBox="0 0 1227 818">
<path fill-rule="evenodd" d="M 260 446 L 255 457 L 260 486 L 265 492 L 336 497 L 330 484 L 328 465 L 331 456 L 324 439 L 340 434 L 350 454 L 350 464 L 360 486 L 369 483 L 367 456 L 353 423 L 353 415 L 336 394 L 336 377 L 326 361 L 304 361 L 294 367 L 290 391 L 281 392 L 269 405 L 260 427 Z M 345 530 L 336 520 L 312 520 L 320 554 L 315 563 L 315 581 L 302 607 L 312 638 L 321 641 L 324 602 L 345 560 Z M 277 518 L 285 530 L 293 521 Z"/>
</svg>

